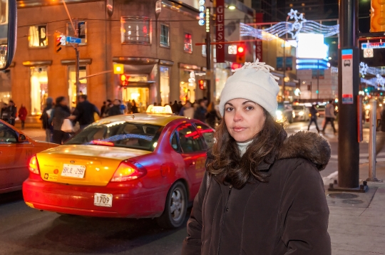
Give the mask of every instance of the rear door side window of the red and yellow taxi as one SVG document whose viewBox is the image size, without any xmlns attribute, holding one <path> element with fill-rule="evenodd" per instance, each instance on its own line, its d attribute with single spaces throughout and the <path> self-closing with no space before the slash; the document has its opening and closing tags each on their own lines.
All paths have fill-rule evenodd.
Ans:
<svg viewBox="0 0 385 255">
<path fill-rule="evenodd" d="M 184 153 L 200 152 L 205 150 L 199 133 L 190 123 L 180 125 L 178 127 L 178 135 L 180 147 L 182 147 Z"/>
</svg>

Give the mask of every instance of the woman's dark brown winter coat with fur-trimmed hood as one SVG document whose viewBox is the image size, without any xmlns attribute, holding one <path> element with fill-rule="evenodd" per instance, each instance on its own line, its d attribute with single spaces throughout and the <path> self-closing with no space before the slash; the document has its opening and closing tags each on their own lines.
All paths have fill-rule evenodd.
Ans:
<svg viewBox="0 0 385 255">
<path fill-rule="evenodd" d="M 319 175 L 329 158 L 327 140 L 298 132 L 273 162 L 258 167 L 270 173 L 269 183 L 235 189 L 206 173 L 182 254 L 330 255 L 329 208 Z"/>
</svg>

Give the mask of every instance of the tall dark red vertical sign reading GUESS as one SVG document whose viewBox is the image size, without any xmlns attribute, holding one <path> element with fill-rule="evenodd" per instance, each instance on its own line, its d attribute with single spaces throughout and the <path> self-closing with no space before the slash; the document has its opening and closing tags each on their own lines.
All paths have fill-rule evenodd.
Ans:
<svg viewBox="0 0 385 255">
<path fill-rule="evenodd" d="M 216 41 L 225 41 L 225 0 L 217 0 Z M 217 63 L 225 62 L 225 44 L 217 44 Z"/>
</svg>

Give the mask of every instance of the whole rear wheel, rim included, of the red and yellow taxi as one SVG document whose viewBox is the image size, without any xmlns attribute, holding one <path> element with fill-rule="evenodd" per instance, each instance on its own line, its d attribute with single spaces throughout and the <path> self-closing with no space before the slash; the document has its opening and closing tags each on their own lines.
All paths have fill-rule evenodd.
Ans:
<svg viewBox="0 0 385 255">
<path fill-rule="evenodd" d="M 182 182 L 175 182 L 168 191 L 165 211 L 157 219 L 160 227 L 174 229 L 182 226 L 187 212 L 188 198 Z"/>
</svg>

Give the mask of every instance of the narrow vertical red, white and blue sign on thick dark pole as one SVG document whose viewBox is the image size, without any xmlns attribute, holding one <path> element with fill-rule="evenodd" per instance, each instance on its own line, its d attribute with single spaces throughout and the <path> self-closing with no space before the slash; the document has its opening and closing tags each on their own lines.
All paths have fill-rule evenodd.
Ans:
<svg viewBox="0 0 385 255">
<path fill-rule="evenodd" d="M 353 50 L 342 50 L 342 103 L 353 104 Z"/>
</svg>

